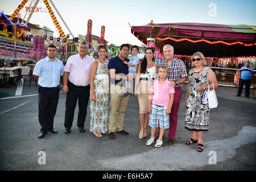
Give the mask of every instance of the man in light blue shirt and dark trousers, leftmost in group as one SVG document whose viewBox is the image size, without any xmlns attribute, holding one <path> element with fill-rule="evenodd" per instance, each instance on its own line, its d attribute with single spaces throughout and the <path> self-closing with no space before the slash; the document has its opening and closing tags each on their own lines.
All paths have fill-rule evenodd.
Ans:
<svg viewBox="0 0 256 182">
<path fill-rule="evenodd" d="M 38 138 L 44 138 L 47 131 L 57 133 L 53 129 L 53 118 L 57 110 L 60 92 L 60 77 L 63 76 L 64 67 L 62 61 L 56 59 L 56 47 L 50 45 L 47 49 L 47 57 L 36 63 L 33 76 L 38 80 L 38 109 L 39 123 L 41 125 Z"/>
</svg>

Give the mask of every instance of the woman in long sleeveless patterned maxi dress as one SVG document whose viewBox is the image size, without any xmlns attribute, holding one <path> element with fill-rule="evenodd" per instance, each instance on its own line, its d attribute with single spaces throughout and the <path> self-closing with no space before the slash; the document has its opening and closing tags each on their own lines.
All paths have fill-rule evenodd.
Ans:
<svg viewBox="0 0 256 182">
<path fill-rule="evenodd" d="M 109 118 L 109 70 L 106 60 L 107 49 L 100 46 L 100 56 L 90 69 L 90 131 L 96 137 L 108 131 Z"/>
</svg>

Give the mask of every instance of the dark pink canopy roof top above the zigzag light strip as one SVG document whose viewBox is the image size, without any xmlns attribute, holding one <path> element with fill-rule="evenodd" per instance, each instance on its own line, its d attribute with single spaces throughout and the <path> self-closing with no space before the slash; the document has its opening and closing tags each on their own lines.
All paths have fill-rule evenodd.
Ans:
<svg viewBox="0 0 256 182">
<path fill-rule="evenodd" d="M 163 23 L 146 26 L 133 26 L 131 32 L 151 33 L 152 27 L 156 36 L 164 33 L 176 31 L 177 35 L 200 36 L 201 38 L 218 38 L 218 39 L 240 39 L 255 40 L 256 28 L 254 26 L 241 25 L 224 25 L 210 23 Z"/>
</svg>

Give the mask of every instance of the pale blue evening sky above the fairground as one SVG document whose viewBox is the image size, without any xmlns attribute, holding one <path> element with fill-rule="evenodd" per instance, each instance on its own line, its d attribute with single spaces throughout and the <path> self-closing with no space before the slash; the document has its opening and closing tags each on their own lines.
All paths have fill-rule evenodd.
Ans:
<svg viewBox="0 0 256 182">
<path fill-rule="evenodd" d="M 22 0 L 0 0 L 0 11 L 11 15 L 21 2 Z M 30 6 L 31 2 L 29 0 L 25 7 Z M 51 2 L 48 2 L 64 34 L 69 34 Z M 187 22 L 256 26 L 256 0 L 52 0 L 52 2 L 75 37 L 86 34 L 87 22 L 92 19 L 92 34 L 100 36 L 101 26 L 105 26 L 105 40 L 115 46 L 123 43 L 142 46 L 143 43 L 131 34 L 130 26 L 146 25 L 151 20 L 153 23 Z M 39 1 L 38 7 L 46 8 L 43 0 Z M 26 12 L 20 12 L 21 18 L 24 18 Z M 34 13 L 30 23 L 51 28 L 54 36 L 59 36 L 49 13 Z"/>
</svg>

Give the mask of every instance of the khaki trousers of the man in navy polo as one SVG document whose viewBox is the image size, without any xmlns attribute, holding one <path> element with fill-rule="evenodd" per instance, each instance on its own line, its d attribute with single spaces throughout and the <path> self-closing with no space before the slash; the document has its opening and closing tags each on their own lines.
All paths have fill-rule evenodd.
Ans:
<svg viewBox="0 0 256 182">
<path fill-rule="evenodd" d="M 110 84 L 109 133 L 123 130 L 123 118 L 129 101 L 125 86 Z"/>
</svg>

